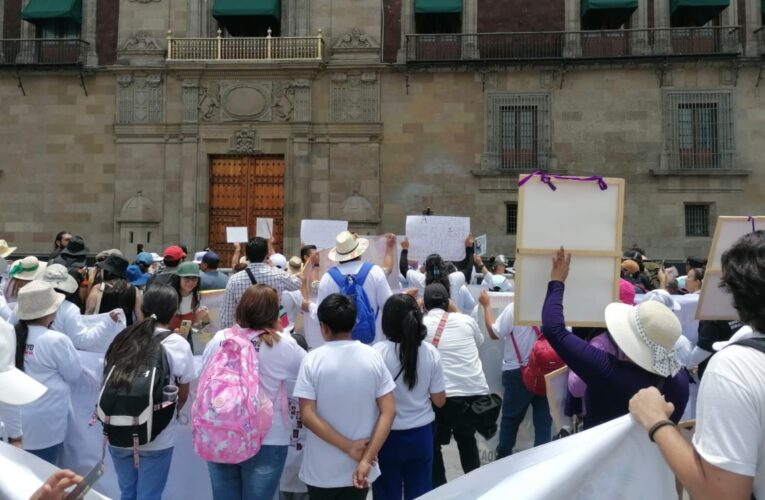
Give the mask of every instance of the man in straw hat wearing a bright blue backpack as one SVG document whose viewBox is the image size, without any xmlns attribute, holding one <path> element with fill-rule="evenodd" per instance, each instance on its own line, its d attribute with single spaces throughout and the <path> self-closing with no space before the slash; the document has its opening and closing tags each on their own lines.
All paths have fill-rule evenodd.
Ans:
<svg viewBox="0 0 765 500">
<path fill-rule="evenodd" d="M 367 343 L 373 343 L 384 338 L 379 313 L 382 306 L 385 305 L 385 301 L 392 295 L 392 292 L 382 268 L 371 262 L 361 261 L 361 256 L 366 252 L 367 248 L 369 248 L 369 240 L 359 238 L 355 233 L 343 231 L 337 235 L 335 246 L 329 251 L 329 260 L 337 262 L 337 266 L 331 268 L 321 278 L 316 302 L 321 304 L 325 297 L 333 293 L 342 293 L 338 279 L 341 280 L 340 282 L 343 280 L 347 282 L 349 279 L 355 280 L 364 289 L 366 300 L 375 315 L 376 327 L 374 338 L 371 342 L 368 341 L 369 339 L 365 339 Z M 335 271 L 332 269 L 335 269 Z M 333 274 L 335 275 L 334 277 Z M 359 317 L 359 300 L 357 298 L 356 301 L 357 318 Z"/>
</svg>

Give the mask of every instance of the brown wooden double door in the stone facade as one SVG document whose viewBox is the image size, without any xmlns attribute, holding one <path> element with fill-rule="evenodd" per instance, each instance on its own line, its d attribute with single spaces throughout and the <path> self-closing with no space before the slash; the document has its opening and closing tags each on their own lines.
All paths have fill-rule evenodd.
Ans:
<svg viewBox="0 0 765 500">
<path fill-rule="evenodd" d="M 209 245 L 229 267 L 234 249 L 226 242 L 227 227 L 248 228 L 255 236 L 256 220 L 274 220 L 273 244 L 277 252 L 284 239 L 284 157 L 221 156 L 210 165 Z M 244 256 L 244 249 L 242 249 Z"/>
</svg>

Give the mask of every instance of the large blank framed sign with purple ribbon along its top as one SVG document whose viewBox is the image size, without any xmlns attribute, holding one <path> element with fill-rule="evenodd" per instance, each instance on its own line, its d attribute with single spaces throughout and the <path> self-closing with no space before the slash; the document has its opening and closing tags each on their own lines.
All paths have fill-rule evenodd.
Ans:
<svg viewBox="0 0 765 500">
<path fill-rule="evenodd" d="M 540 324 L 551 257 L 563 246 L 572 254 L 566 324 L 605 326 L 603 311 L 619 300 L 624 179 L 602 179 L 606 189 L 592 179 L 549 182 L 555 189 L 533 176 L 518 189 L 515 323 Z"/>
</svg>

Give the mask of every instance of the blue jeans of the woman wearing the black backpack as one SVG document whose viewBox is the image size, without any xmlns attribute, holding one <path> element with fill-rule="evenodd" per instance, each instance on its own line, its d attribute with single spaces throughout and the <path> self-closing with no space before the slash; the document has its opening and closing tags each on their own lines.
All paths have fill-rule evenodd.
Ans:
<svg viewBox="0 0 765 500">
<path fill-rule="evenodd" d="M 138 468 L 133 466 L 133 450 L 109 447 L 122 500 L 161 500 L 167 483 L 173 449 L 138 452 Z"/>
</svg>

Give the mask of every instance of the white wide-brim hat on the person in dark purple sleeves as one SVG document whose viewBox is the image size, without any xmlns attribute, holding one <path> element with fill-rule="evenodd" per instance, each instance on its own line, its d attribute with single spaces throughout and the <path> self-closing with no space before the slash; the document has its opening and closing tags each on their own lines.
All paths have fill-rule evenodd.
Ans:
<svg viewBox="0 0 765 500">
<path fill-rule="evenodd" d="M 606 326 L 619 349 L 646 371 L 674 376 L 680 369 L 673 350 L 682 334 L 680 320 L 667 306 L 648 301 L 606 307 Z"/>
</svg>

